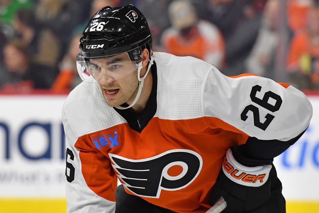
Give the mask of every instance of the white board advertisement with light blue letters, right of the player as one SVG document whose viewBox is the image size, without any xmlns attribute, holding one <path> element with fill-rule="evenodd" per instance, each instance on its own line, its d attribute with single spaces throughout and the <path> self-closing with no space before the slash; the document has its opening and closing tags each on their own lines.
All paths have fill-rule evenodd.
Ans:
<svg viewBox="0 0 319 213">
<path fill-rule="evenodd" d="M 313 107 L 308 129 L 274 160 L 286 200 L 319 201 L 319 96 L 308 99 Z"/>
</svg>

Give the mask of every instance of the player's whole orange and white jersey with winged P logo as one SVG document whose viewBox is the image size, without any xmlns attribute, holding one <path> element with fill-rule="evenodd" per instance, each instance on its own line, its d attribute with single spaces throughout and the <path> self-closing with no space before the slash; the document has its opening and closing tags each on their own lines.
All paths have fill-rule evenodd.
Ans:
<svg viewBox="0 0 319 213">
<path fill-rule="evenodd" d="M 98 84 L 66 99 L 67 212 L 114 212 L 120 179 L 129 194 L 175 212 L 205 212 L 226 150 L 248 137 L 288 141 L 312 106 L 293 86 L 227 77 L 193 57 L 155 52 L 157 111 L 141 133 L 109 107 Z"/>
</svg>

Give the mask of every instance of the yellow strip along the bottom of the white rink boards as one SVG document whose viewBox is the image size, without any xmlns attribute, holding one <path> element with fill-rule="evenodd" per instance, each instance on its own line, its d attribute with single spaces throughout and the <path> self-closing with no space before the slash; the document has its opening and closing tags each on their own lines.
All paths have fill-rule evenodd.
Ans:
<svg viewBox="0 0 319 213">
<path fill-rule="evenodd" d="M 0 198 L 1 213 L 65 213 L 66 200 Z M 319 213 L 319 201 L 287 201 L 286 213 Z"/>
</svg>

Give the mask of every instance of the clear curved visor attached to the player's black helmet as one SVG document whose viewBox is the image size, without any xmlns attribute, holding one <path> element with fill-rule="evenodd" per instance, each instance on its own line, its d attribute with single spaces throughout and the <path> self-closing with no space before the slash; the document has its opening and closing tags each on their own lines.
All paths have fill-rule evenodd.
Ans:
<svg viewBox="0 0 319 213">
<path fill-rule="evenodd" d="M 83 81 L 89 83 L 106 84 L 129 75 L 137 68 L 128 53 L 105 58 L 86 58 L 82 53 L 77 55 L 78 73 Z"/>
</svg>

